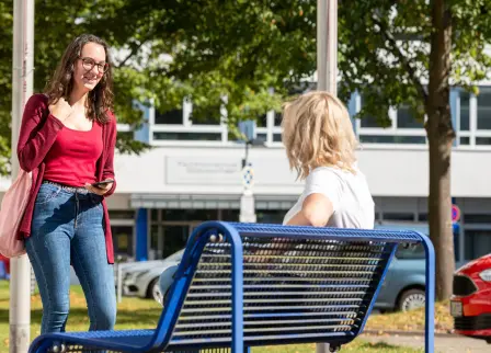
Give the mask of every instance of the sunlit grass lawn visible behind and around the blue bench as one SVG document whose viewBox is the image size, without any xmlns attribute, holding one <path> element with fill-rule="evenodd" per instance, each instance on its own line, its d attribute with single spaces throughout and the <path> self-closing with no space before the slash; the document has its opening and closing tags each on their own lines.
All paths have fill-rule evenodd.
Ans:
<svg viewBox="0 0 491 353">
<path fill-rule="evenodd" d="M 70 291 L 70 316 L 68 318 L 68 331 L 85 331 L 89 328 L 89 317 L 87 315 L 87 304 L 82 289 L 79 286 L 72 286 Z M 446 327 L 449 318 L 445 317 L 446 306 L 438 306 L 438 315 L 442 321 L 437 319 L 437 327 Z M 446 311 L 445 311 L 446 310 Z M 31 339 L 39 334 L 39 323 L 42 315 L 42 305 L 39 295 L 32 296 L 31 299 Z M 138 298 L 123 298 L 123 303 L 117 307 L 116 329 L 148 329 L 155 328 L 160 317 L 161 309 L 153 300 Z M 447 322 L 448 321 L 448 322 Z M 408 323 L 411 322 L 411 323 Z M 424 317 L 422 310 L 415 310 L 411 314 L 390 314 L 374 315 L 367 324 L 367 329 L 376 330 L 422 330 Z M 0 353 L 9 352 L 9 282 L 0 281 Z M 256 348 L 253 353 L 311 353 L 316 352 L 315 344 L 299 344 L 286 346 Z M 413 353 L 422 352 L 409 348 L 393 346 L 386 343 L 368 343 L 358 339 L 355 342 L 342 348 L 341 352 L 366 352 L 366 353 Z"/>
</svg>

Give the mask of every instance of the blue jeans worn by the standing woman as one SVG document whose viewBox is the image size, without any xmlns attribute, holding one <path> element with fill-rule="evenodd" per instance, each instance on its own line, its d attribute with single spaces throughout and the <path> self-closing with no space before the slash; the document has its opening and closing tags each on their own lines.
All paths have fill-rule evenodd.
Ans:
<svg viewBox="0 0 491 353">
<path fill-rule="evenodd" d="M 70 263 L 85 295 L 90 330 L 116 321 L 113 265 L 109 264 L 102 196 L 44 183 L 25 248 L 43 301 L 41 333 L 62 332 L 70 309 Z"/>
</svg>

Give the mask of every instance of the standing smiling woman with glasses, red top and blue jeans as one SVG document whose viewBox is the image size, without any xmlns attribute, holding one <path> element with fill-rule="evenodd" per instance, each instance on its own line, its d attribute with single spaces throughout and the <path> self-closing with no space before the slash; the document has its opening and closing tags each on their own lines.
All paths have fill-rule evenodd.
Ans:
<svg viewBox="0 0 491 353">
<path fill-rule="evenodd" d="M 111 330 L 115 323 L 104 201 L 116 186 L 112 109 L 107 45 L 84 34 L 67 47 L 45 94 L 33 95 L 24 110 L 18 156 L 21 168 L 32 171 L 33 189 L 20 236 L 43 301 L 41 333 L 65 331 L 70 264 L 85 295 L 90 330 Z"/>
</svg>

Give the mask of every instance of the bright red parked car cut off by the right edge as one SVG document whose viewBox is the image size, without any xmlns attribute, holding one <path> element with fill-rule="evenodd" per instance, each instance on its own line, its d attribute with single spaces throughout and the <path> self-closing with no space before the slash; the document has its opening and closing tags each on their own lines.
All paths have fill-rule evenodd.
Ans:
<svg viewBox="0 0 491 353">
<path fill-rule="evenodd" d="M 491 253 L 455 271 L 453 292 L 455 332 L 491 344 Z"/>
</svg>

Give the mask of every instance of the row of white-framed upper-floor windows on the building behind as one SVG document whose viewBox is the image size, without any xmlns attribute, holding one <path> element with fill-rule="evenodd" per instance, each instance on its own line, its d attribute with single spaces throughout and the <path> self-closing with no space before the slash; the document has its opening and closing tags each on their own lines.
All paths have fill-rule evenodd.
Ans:
<svg viewBox="0 0 491 353">
<path fill-rule="evenodd" d="M 491 145 L 491 87 L 481 87 L 478 96 L 459 88 L 450 94 L 453 125 L 457 133 L 456 146 Z M 354 116 L 363 106 L 363 98 L 354 93 L 347 104 L 350 115 Z M 193 121 L 192 103 L 183 102 L 183 107 L 159 112 L 153 107 L 146 110 L 148 130 L 138 139 L 151 145 L 224 145 L 236 143 L 228 133 L 227 125 L 219 116 L 209 119 Z M 224 114 L 224 112 L 217 112 Z M 225 113 L 226 114 L 226 113 Z M 357 137 L 362 144 L 425 145 L 426 133 L 423 122 L 416 121 L 408 105 L 389 110 L 390 126 L 379 127 L 374 117 L 366 116 L 353 121 Z M 281 145 L 281 113 L 269 112 L 258 121 L 258 139 L 266 146 Z"/>
</svg>

